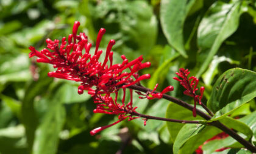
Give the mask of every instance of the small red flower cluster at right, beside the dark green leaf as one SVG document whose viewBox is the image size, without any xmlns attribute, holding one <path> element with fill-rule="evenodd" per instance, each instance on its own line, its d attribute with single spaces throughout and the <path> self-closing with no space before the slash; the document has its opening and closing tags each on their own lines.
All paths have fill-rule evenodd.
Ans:
<svg viewBox="0 0 256 154">
<path fill-rule="evenodd" d="M 179 77 L 182 79 L 179 79 L 177 77 L 173 77 L 173 79 L 180 82 L 180 85 L 182 85 L 186 89 L 183 92 L 183 94 L 194 98 L 193 116 L 196 117 L 196 102 L 198 102 L 200 105 L 202 104 L 201 100 L 202 100 L 202 96 L 204 94 L 204 86 L 201 86 L 201 88 L 200 88 L 201 95 L 199 96 L 196 94 L 196 91 L 198 90 L 197 84 L 198 84 L 199 80 L 194 76 L 192 76 L 188 79 L 188 74 L 190 74 L 188 69 L 180 68 L 179 72 L 176 72 L 176 74 L 179 75 Z"/>
</svg>

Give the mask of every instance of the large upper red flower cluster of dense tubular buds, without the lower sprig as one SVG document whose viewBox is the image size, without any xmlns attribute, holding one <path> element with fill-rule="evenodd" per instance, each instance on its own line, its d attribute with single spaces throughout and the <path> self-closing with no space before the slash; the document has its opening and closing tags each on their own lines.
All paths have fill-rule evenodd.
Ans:
<svg viewBox="0 0 256 154">
<path fill-rule="evenodd" d="M 123 63 L 112 65 L 113 52 L 111 49 L 115 44 L 115 40 L 109 41 L 104 62 L 101 63 L 99 57 L 102 51 L 98 51 L 98 48 L 105 29 L 99 30 L 96 49 L 94 55 L 91 55 L 89 52 L 91 43 L 88 43 L 85 33 L 76 35 L 79 25 L 78 21 L 74 23 L 73 34 L 68 36 L 68 44 L 65 37 L 62 38 L 60 47 L 59 40 L 52 41 L 49 38 L 46 40 L 48 49 L 51 49 L 53 52 L 48 49 L 38 52 L 35 50 L 35 47 L 29 47 L 31 51 L 29 57 L 37 56 L 37 62 L 49 63 L 54 65 L 54 68 L 57 68 L 57 71 L 48 73 L 49 77 L 82 82 L 78 88 L 78 93 L 82 94 L 84 90 L 87 90 L 91 96 L 94 96 L 96 93 L 113 93 L 118 88 L 126 88 L 140 80 L 150 78 L 150 74 L 144 74 L 140 77 L 137 74 L 140 69 L 148 68 L 151 65 L 150 62 L 141 63 L 142 57 L 129 62 L 122 55 Z M 78 42 L 76 43 L 76 41 Z M 84 49 L 85 53 L 83 54 Z M 108 60 L 110 61 L 109 66 L 107 65 Z M 126 72 L 126 69 L 130 69 L 130 72 Z M 93 86 L 96 89 L 93 89 Z"/>
</svg>

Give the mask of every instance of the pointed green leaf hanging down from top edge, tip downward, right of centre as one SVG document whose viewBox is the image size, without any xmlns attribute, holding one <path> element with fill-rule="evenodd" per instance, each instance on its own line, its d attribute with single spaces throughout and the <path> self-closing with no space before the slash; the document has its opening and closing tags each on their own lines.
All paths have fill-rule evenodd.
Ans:
<svg viewBox="0 0 256 154">
<path fill-rule="evenodd" d="M 160 21 L 163 33 L 171 44 L 183 57 L 187 58 L 183 40 L 183 24 L 195 0 L 162 0 L 160 4 Z"/>
</svg>

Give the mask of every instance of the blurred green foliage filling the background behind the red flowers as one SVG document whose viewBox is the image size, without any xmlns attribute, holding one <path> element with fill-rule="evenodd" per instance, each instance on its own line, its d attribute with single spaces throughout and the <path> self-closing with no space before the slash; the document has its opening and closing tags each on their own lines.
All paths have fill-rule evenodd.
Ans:
<svg viewBox="0 0 256 154">
<path fill-rule="evenodd" d="M 232 112 L 229 108 L 226 114 L 243 117 L 239 119 L 243 124 L 233 120 L 227 125 L 236 125 L 238 131 L 247 125 L 248 131 L 244 131 L 254 134 L 250 141 L 255 144 L 255 0 L 2 0 L 0 153 L 172 153 L 172 149 L 174 153 L 193 153 L 220 132 L 213 127 L 162 121 L 148 121 L 144 127 L 143 120 L 137 119 L 90 136 L 90 130 L 110 124 L 116 117 L 93 114 L 95 105 L 87 94 L 77 94 L 78 83 L 51 79 L 47 72 L 54 70 L 52 66 L 28 58 L 30 45 L 40 50 L 46 38 L 67 36 L 74 21 L 80 21 L 79 31 L 85 32 L 93 44 L 98 30 L 104 27 L 107 32 L 101 47 L 105 49 L 110 39 L 116 40 L 115 61 L 121 60 L 121 54 L 129 60 L 143 55 L 144 61 L 151 61 L 151 68 L 141 72 L 152 75 L 147 83 L 143 82 L 149 88 L 156 83 L 159 90 L 173 85 L 171 96 L 191 102 L 183 96 L 179 83 L 172 80 L 179 68 L 190 69 L 192 75 L 200 77 L 199 85 L 205 86 L 203 102 L 210 99 L 207 105 L 218 116 L 224 117 L 219 110 L 235 101 L 215 103 L 226 98 L 213 97 L 218 93 L 212 91 L 222 81 L 218 77 L 235 67 L 251 70 L 246 71 L 250 83 L 244 83 L 243 74 L 237 72 L 238 79 L 233 79 L 232 84 L 243 80 L 241 84 L 225 89 L 225 93 L 233 89 L 232 94 L 241 97 L 250 94 L 239 105 L 233 104 Z M 166 100 L 134 97 L 134 102 L 141 113 L 193 119 L 190 111 Z M 193 135 L 188 135 L 190 131 Z M 244 152 L 232 138 L 208 142 L 202 149 L 213 153 L 221 147 L 234 148 L 226 153 Z"/>
</svg>

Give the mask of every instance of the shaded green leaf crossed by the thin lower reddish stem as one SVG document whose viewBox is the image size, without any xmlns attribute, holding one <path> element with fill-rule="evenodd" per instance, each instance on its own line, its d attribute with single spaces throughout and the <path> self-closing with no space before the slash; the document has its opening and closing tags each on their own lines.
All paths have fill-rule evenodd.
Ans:
<svg viewBox="0 0 256 154">
<path fill-rule="evenodd" d="M 169 103 L 166 114 L 166 118 L 169 119 L 180 119 L 184 121 L 192 121 L 196 119 L 202 119 L 200 116 L 193 117 L 193 114 L 190 110 L 177 105 L 176 103 Z M 178 135 L 180 129 L 183 127 L 184 124 L 180 124 L 177 122 L 166 122 L 168 127 L 172 142 L 175 141 L 176 136 Z"/>
</svg>

